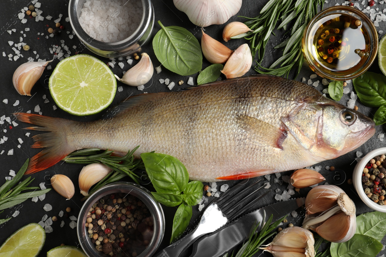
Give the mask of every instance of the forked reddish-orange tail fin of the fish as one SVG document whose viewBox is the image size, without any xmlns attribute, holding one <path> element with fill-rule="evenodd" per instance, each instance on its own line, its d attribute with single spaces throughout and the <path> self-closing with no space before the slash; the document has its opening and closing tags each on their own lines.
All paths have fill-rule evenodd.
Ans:
<svg viewBox="0 0 386 257">
<path fill-rule="evenodd" d="M 69 146 L 66 140 L 67 128 L 74 121 L 30 113 L 14 113 L 14 115 L 19 121 L 40 126 L 24 129 L 49 131 L 49 133 L 38 134 L 32 137 L 35 141 L 31 146 L 32 148 L 45 147 L 46 149 L 31 158 L 25 175 L 45 170 L 76 150 Z"/>
</svg>

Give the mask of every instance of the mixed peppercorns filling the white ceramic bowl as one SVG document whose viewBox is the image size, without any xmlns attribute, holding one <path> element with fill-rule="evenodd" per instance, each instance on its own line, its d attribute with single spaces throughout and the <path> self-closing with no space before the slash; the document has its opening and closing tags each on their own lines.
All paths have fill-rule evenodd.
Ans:
<svg viewBox="0 0 386 257">
<path fill-rule="evenodd" d="M 366 164 L 362 173 L 362 185 L 365 194 L 379 205 L 385 204 L 386 191 L 383 189 L 386 187 L 386 169 L 383 167 L 385 158 L 384 155 L 375 156 Z"/>
</svg>

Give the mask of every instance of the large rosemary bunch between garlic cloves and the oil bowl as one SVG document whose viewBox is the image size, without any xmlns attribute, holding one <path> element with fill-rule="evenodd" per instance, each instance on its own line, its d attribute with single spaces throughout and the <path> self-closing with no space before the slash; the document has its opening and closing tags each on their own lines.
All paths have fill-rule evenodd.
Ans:
<svg viewBox="0 0 386 257">
<path fill-rule="evenodd" d="M 260 15 L 253 18 L 239 16 L 247 19 L 244 24 L 252 31 L 231 38 L 238 39 L 244 37 L 249 40 L 252 56 L 257 54 L 256 72 L 276 76 L 285 75 L 288 77 L 289 72 L 296 65 L 297 76 L 304 62 L 301 46 L 303 32 L 308 22 L 318 12 L 318 5 L 323 9 L 323 3 L 324 0 L 269 0 L 261 9 Z M 281 22 L 277 29 L 283 28 L 284 30 L 287 30 L 289 22 L 293 20 L 295 22 L 291 26 L 291 31 L 287 30 L 290 34 L 289 38 L 274 47 L 274 49 L 284 47 L 283 56 L 266 68 L 261 66 L 261 61 L 264 58 L 269 38 L 271 34 L 274 34 L 273 30 L 279 20 Z"/>
</svg>

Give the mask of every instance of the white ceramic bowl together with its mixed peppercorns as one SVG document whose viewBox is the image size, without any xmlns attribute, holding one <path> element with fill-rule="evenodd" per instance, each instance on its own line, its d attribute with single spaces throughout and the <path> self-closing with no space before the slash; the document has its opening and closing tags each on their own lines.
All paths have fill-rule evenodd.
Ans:
<svg viewBox="0 0 386 257">
<path fill-rule="evenodd" d="M 373 210 L 386 212 L 386 147 L 365 155 L 355 166 L 352 181 L 361 200 Z"/>
</svg>

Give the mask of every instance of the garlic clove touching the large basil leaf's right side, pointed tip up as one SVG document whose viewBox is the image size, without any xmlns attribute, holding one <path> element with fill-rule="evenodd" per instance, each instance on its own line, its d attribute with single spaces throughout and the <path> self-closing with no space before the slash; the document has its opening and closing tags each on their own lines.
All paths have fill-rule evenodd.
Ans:
<svg viewBox="0 0 386 257">
<path fill-rule="evenodd" d="M 201 29 L 201 32 L 201 50 L 205 58 L 213 64 L 226 62 L 233 51 L 205 34 L 203 29 Z"/>
</svg>

